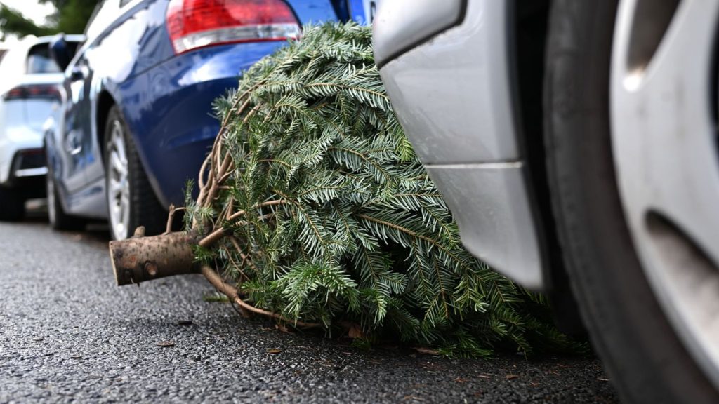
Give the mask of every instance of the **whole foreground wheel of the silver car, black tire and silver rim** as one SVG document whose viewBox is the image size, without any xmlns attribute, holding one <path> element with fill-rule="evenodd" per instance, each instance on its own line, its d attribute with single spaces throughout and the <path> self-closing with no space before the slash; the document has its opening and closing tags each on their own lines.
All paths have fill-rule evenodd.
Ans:
<svg viewBox="0 0 719 404">
<path fill-rule="evenodd" d="M 626 403 L 719 403 L 719 271 L 710 258 L 718 247 L 719 198 L 705 204 L 719 186 L 712 183 L 719 174 L 715 132 L 691 132 L 696 126 L 682 127 L 687 122 L 677 116 L 666 120 L 684 114 L 714 123 L 716 72 L 708 72 L 715 68 L 718 4 L 558 0 L 552 6 L 544 111 L 554 219 L 582 318 Z M 695 37 L 682 32 L 692 26 L 700 31 Z M 679 44 L 668 45 L 677 38 Z M 677 45 L 687 50 L 684 58 L 677 59 Z M 690 58 L 692 47 L 697 53 Z M 664 63 L 681 68 L 657 73 Z M 699 80 L 703 88 L 692 81 L 697 69 L 707 73 Z M 632 76 L 645 73 L 669 82 Z M 682 78 L 679 86 L 672 78 Z M 653 93 L 637 92 L 656 85 Z M 696 152 L 692 137 L 706 137 L 706 150 Z M 680 167 L 692 165 L 684 156 L 711 161 L 711 170 L 689 176 Z M 667 164 L 673 172 L 656 169 Z M 701 200 L 692 207 L 687 198 Z M 684 227 L 689 221 L 677 226 L 667 212 L 701 216 L 700 226 L 713 226 L 701 234 L 715 238 L 688 242 L 677 229 L 694 228 Z"/>
</svg>

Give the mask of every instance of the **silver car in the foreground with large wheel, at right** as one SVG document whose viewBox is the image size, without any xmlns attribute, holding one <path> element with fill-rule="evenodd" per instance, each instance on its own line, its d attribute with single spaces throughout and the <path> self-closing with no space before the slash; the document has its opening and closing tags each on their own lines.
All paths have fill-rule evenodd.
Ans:
<svg viewBox="0 0 719 404">
<path fill-rule="evenodd" d="M 719 403 L 718 22 L 700 0 L 395 0 L 375 20 L 462 241 L 560 313 L 576 298 L 626 403 Z"/>
</svg>

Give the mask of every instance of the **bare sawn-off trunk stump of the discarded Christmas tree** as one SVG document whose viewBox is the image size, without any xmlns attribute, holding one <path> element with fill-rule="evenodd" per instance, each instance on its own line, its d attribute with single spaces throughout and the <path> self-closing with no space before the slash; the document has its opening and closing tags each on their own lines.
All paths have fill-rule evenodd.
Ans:
<svg viewBox="0 0 719 404">
<path fill-rule="evenodd" d="M 110 259 L 117 285 L 200 273 L 193 254 L 193 246 L 197 243 L 197 235 L 186 232 L 110 242 Z"/>
</svg>

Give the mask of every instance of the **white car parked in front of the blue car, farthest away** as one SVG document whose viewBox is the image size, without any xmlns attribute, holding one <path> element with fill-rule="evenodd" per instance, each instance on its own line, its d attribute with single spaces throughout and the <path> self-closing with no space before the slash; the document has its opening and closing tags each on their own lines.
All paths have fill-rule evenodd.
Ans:
<svg viewBox="0 0 719 404">
<path fill-rule="evenodd" d="M 0 220 L 22 219 L 28 198 L 45 196 L 42 125 L 60 105 L 63 73 L 52 37 L 24 37 L 0 62 Z M 71 54 L 83 37 L 67 37 Z"/>
</svg>

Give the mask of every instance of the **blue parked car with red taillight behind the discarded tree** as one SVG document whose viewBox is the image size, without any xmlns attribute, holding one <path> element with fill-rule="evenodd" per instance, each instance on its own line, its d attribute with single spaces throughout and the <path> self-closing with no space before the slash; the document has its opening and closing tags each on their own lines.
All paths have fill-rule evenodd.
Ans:
<svg viewBox="0 0 719 404">
<path fill-rule="evenodd" d="M 212 103 L 301 26 L 361 19 L 373 1 L 105 0 L 70 60 L 63 111 L 45 125 L 55 229 L 108 219 L 113 239 L 165 229 L 219 130 Z M 367 6 L 370 4 L 370 6 Z"/>
</svg>

